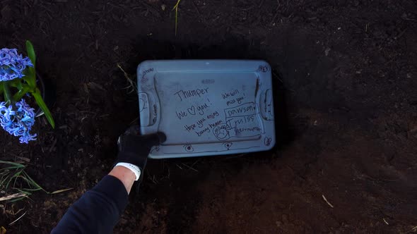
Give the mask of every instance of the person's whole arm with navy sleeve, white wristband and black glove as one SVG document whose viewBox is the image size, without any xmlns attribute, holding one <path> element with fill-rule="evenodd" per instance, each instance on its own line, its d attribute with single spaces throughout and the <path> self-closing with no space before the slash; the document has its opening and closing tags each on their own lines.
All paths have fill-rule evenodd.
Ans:
<svg viewBox="0 0 417 234">
<path fill-rule="evenodd" d="M 165 141 L 165 135 L 160 133 L 143 136 L 129 130 L 127 133 L 119 137 L 116 166 L 66 211 L 52 233 L 112 233 L 127 207 L 134 181 L 146 166 L 151 147 Z M 139 176 L 136 170 L 117 166 L 119 163 L 136 166 Z"/>
</svg>

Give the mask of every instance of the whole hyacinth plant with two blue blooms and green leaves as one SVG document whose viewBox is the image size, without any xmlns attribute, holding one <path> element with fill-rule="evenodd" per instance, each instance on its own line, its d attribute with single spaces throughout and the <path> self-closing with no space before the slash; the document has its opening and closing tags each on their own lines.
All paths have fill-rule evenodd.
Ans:
<svg viewBox="0 0 417 234">
<path fill-rule="evenodd" d="M 35 51 L 29 41 L 26 49 L 27 57 L 18 54 L 17 49 L 0 49 L 0 94 L 4 94 L 4 101 L 0 101 L 0 125 L 7 133 L 19 137 L 20 143 L 28 144 L 37 137 L 31 133 L 36 115 L 23 97 L 33 97 L 52 128 L 54 120 L 37 87 Z"/>
</svg>

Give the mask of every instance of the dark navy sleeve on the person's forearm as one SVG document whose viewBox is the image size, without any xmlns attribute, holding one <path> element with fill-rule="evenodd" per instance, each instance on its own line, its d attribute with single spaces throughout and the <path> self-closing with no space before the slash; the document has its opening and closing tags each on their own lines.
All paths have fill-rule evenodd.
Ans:
<svg viewBox="0 0 417 234">
<path fill-rule="evenodd" d="M 69 207 L 52 233 L 112 233 L 127 202 L 122 181 L 107 175 Z"/>
</svg>

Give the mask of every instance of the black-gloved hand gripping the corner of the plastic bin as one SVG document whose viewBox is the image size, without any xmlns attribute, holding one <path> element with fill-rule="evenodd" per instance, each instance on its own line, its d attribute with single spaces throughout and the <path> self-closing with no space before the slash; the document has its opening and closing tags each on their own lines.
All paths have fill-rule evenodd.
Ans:
<svg viewBox="0 0 417 234">
<path fill-rule="evenodd" d="M 164 133 L 153 133 L 151 135 L 139 135 L 139 125 L 131 126 L 119 136 L 117 146 L 119 154 L 114 165 L 127 163 L 138 166 L 143 177 L 143 169 L 148 161 L 148 154 L 155 145 L 165 142 L 167 137 Z"/>
</svg>

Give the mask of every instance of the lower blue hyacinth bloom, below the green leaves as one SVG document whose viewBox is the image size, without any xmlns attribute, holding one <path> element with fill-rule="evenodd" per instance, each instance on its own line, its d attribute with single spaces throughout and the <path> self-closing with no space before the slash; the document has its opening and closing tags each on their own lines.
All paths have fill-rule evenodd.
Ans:
<svg viewBox="0 0 417 234">
<path fill-rule="evenodd" d="M 30 134 L 34 124 L 35 111 L 24 99 L 14 105 L 0 102 L 0 125 L 7 133 L 19 137 L 20 143 L 36 140 L 36 134 Z"/>
</svg>

